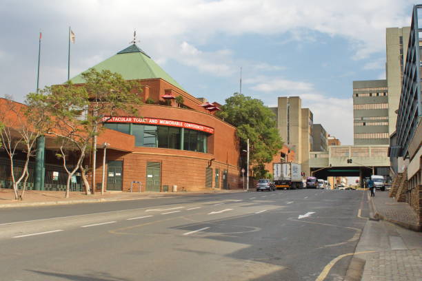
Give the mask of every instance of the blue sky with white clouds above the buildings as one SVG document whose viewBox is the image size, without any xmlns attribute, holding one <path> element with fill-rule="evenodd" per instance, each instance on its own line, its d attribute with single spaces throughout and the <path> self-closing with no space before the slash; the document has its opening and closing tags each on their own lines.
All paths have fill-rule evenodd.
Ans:
<svg viewBox="0 0 422 281">
<path fill-rule="evenodd" d="M 239 91 L 277 105 L 301 96 L 314 123 L 352 144 L 352 81 L 385 78 L 385 28 L 410 25 L 407 0 L 2 1 L 0 96 L 67 77 L 68 27 L 76 34 L 71 76 L 139 46 L 190 94 L 223 103 Z"/>
</svg>

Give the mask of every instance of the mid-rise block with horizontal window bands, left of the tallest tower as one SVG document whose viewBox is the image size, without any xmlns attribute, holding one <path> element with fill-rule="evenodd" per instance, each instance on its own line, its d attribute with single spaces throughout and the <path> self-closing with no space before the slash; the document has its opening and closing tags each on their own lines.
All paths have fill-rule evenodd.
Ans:
<svg viewBox="0 0 422 281">
<path fill-rule="evenodd" d="M 353 81 L 354 145 L 389 144 L 386 80 Z"/>
</svg>

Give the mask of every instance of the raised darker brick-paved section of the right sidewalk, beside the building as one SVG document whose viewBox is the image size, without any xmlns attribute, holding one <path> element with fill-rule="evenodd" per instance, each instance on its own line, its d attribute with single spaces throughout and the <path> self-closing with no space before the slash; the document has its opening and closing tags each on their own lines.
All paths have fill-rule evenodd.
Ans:
<svg viewBox="0 0 422 281">
<path fill-rule="evenodd" d="M 422 231 L 421 225 L 418 224 L 416 213 L 408 203 L 396 202 L 394 198 L 388 197 L 387 191 L 376 191 L 375 196 L 370 197 L 369 200 L 375 218 L 387 220 L 414 231 Z"/>
</svg>

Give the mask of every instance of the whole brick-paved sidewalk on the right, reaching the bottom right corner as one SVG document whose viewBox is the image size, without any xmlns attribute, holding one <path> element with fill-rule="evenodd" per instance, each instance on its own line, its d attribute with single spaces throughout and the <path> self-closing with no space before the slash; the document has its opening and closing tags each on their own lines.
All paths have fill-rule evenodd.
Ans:
<svg viewBox="0 0 422 281">
<path fill-rule="evenodd" d="M 412 222 L 412 209 L 389 199 L 386 192 L 377 192 L 375 199 L 367 198 L 384 218 Z M 354 258 L 364 264 L 361 281 L 422 280 L 422 233 L 387 220 L 368 220 Z"/>
</svg>

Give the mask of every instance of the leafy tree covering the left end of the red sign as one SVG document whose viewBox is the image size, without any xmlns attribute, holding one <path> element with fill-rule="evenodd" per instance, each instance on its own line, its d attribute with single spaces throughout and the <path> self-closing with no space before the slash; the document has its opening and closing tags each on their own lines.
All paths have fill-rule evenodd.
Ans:
<svg viewBox="0 0 422 281">
<path fill-rule="evenodd" d="M 118 112 L 136 116 L 137 105 L 141 104 L 138 96 L 141 89 L 139 82 L 125 81 L 120 74 L 112 73 L 110 70 L 98 72 L 91 68 L 84 72 L 82 77 L 86 81 L 83 87 L 90 98 L 86 122 L 92 127 L 92 185 L 94 185 L 99 125 L 105 122 L 104 118 L 112 118 Z M 103 193 L 104 190 L 101 188 L 101 194 Z"/>
</svg>

